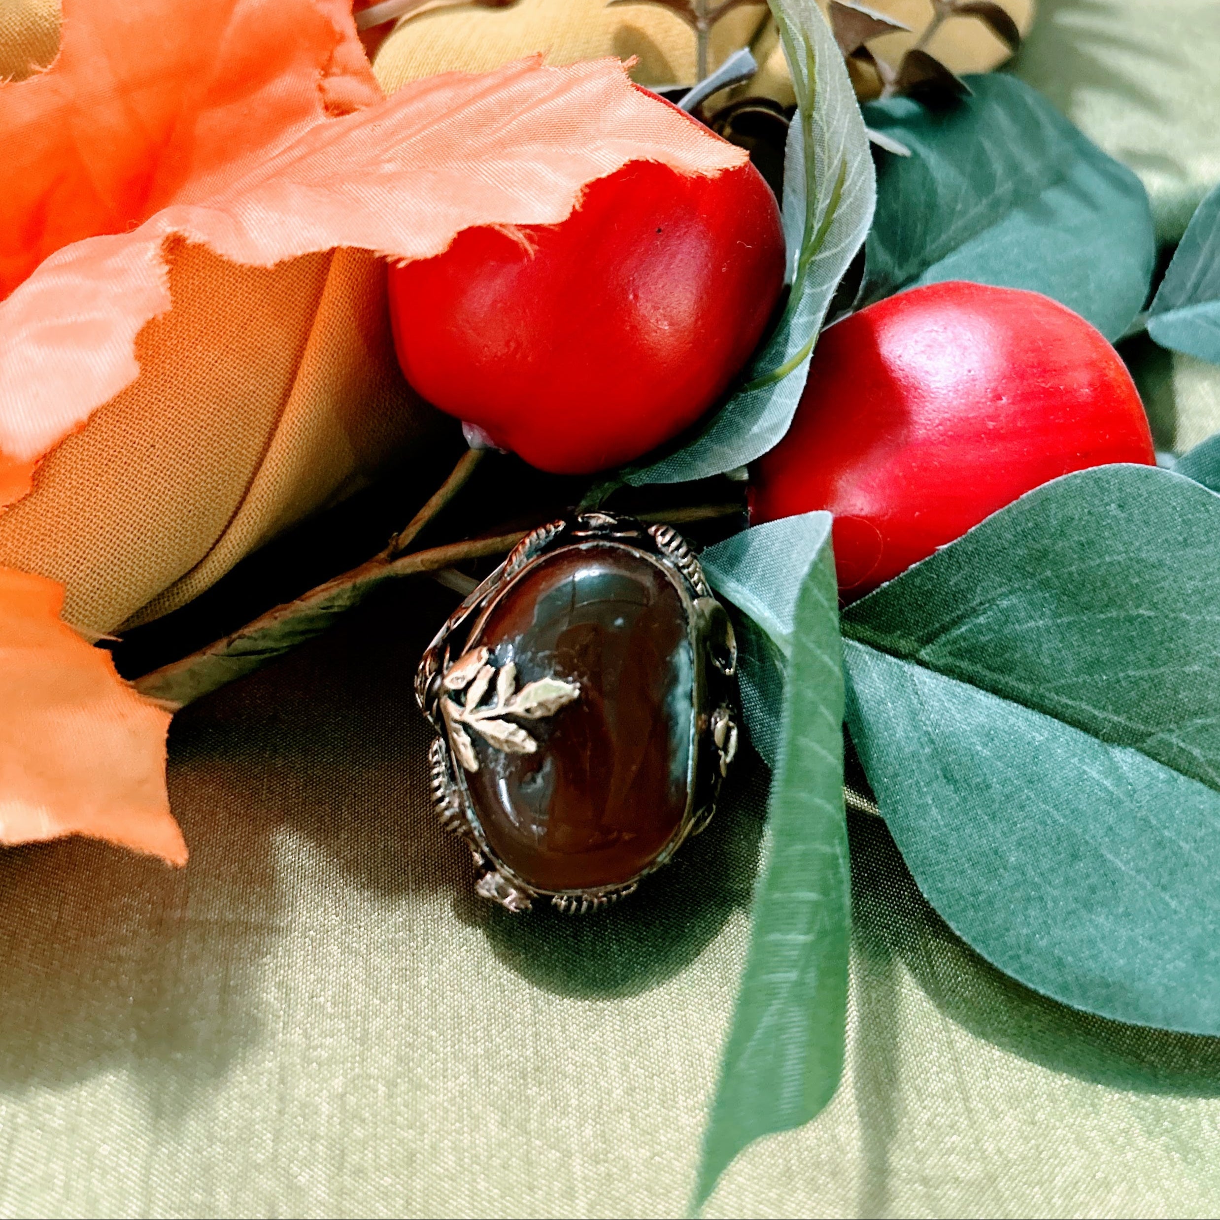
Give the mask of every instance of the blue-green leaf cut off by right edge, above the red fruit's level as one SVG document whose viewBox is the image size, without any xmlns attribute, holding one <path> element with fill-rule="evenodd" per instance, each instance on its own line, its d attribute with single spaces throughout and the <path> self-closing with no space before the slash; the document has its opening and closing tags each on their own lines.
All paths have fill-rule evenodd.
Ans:
<svg viewBox="0 0 1220 1220">
<path fill-rule="evenodd" d="M 1220 187 L 1199 204 L 1148 310 L 1163 346 L 1220 364 Z"/>
</svg>

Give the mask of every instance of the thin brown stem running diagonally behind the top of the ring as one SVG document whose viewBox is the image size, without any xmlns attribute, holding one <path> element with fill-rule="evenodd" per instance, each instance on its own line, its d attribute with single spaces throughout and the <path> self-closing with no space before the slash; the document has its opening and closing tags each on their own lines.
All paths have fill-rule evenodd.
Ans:
<svg viewBox="0 0 1220 1220">
<path fill-rule="evenodd" d="M 461 467 L 462 464 L 458 465 Z M 456 476 L 458 470 L 450 475 L 445 486 L 449 486 Z M 468 468 L 466 477 L 468 477 Z M 442 492 L 444 488 L 433 497 L 433 500 Z M 450 495 L 449 499 L 451 498 Z M 432 500 L 428 503 L 431 504 Z M 732 516 L 741 511 L 739 504 L 703 504 L 662 512 L 642 512 L 639 520 L 683 525 L 692 521 Z M 414 525 L 412 521 L 411 526 Z M 403 534 L 406 534 L 411 526 L 407 526 Z M 403 534 L 399 537 L 401 538 Z M 439 572 L 454 564 L 471 559 L 505 555 L 523 537 L 525 531 L 518 529 L 512 533 L 449 543 L 445 547 L 432 547 L 428 550 L 417 550 L 411 555 L 399 556 L 394 555 L 392 544 L 359 567 L 336 576 L 295 601 L 285 601 L 274 606 L 223 639 L 201 648 L 198 653 L 192 653 L 179 661 L 162 665 L 161 669 L 145 673 L 137 678 L 133 684 L 140 694 L 150 699 L 182 708 L 212 691 L 218 691 L 237 678 L 262 669 L 264 665 L 283 656 L 298 644 L 304 644 L 315 636 L 320 636 L 334 623 L 339 615 L 357 606 L 383 582 L 403 576 Z"/>
</svg>

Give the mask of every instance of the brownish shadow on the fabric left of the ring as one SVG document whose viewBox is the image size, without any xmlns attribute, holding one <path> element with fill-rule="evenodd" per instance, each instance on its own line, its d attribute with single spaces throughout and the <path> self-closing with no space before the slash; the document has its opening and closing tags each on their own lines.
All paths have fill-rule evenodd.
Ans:
<svg viewBox="0 0 1220 1220">
<path fill-rule="evenodd" d="M 285 841 L 390 897 L 466 880 L 411 694 L 416 637 L 453 595 L 428 586 L 411 616 L 420 584 L 394 592 L 174 717 L 185 869 L 85 839 L 0 852 L 0 1093 L 127 1071 L 159 1115 L 189 1109 L 266 1033 L 267 959 L 292 931 Z"/>
</svg>

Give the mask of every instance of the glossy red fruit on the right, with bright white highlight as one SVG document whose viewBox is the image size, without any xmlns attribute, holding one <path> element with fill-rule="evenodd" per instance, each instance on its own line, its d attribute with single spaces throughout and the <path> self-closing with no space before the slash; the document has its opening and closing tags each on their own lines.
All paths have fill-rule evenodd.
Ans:
<svg viewBox="0 0 1220 1220">
<path fill-rule="evenodd" d="M 1109 343 L 1038 293 L 915 288 L 832 326 L 788 434 L 750 471 L 750 520 L 828 509 L 860 597 L 1074 470 L 1155 461 Z"/>
</svg>

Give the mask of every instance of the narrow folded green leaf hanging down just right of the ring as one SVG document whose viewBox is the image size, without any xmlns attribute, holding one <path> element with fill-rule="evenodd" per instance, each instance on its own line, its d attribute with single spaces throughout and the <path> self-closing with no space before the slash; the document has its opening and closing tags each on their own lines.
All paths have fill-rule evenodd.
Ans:
<svg viewBox="0 0 1220 1220">
<path fill-rule="evenodd" d="M 795 599 L 794 554 L 810 559 Z M 709 548 L 704 560 L 726 597 L 744 590 L 769 638 L 787 645 L 791 681 L 750 946 L 704 1137 L 697 1208 L 747 1144 L 802 1126 L 833 1097 L 843 1070 L 850 917 L 828 517 L 758 526 Z"/>
</svg>

